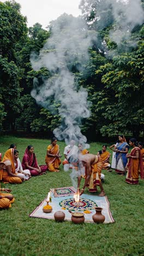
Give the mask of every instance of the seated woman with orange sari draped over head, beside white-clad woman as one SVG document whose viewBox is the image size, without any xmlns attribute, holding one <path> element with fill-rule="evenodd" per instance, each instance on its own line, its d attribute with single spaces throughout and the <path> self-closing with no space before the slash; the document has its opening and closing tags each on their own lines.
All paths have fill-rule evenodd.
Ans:
<svg viewBox="0 0 144 256">
<path fill-rule="evenodd" d="M 8 183 L 22 183 L 22 178 L 18 177 L 15 171 L 15 154 L 17 153 L 16 149 L 8 149 L 3 158 L 4 167 L 3 170 L 0 170 L 0 180 Z"/>
</svg>

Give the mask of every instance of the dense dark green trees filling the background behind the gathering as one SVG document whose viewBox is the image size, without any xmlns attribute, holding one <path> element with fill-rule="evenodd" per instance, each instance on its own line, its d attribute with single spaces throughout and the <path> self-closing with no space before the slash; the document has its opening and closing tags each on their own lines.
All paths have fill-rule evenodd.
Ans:
<svg viewBox="0 0 144 256">
<path fill-rule="evenodd" d="M 88 138 L 94 139 L 96 134 L 111 137 L 120 132 L 138 137 L 144 130 L 144 25 L 142 18 L 137 22 L 135 17 L 135 22 L 127 19 L 130 2 L 133 1 L 125 6 L 120 0 L 81 0 L 82 19 L 89 33 L 97 38 L 93 38 L 88 49 L 89 60 L 83 61 L 78 48 L 71 50 L 65 45 L 62 49 L 77 90 L 85 88 L 91 102 L 91 116 L 81 124 Z M 51 39 L 53 30 L 62 31 L 64 38 L 73 16 L 63 14 L 44 30 L 39 23 L 27 28 L 20 10 L 15 1 L 0 2 L 0 129 L 52 132 L 62 121 L 59 102 L 51 98 L 53 114 L 50 108 L 45 108 L 46 104 L 40 106 L 34 100 L 31 91 L 33 79 L 37 79 L 40 88 L 44 80 L 55 79 L 58 70 L 53 73 L 45 66 L 34 70 L 30 56 L 39 55 L 43 47 L 43 51 L 53 53 L 57 47 L 55 40 L 61 39 Z M 79 24 L 80 19 L 76 22 Z M 69 45 L 73 40 L 79 44 L 77 29 L 81 34 L 75 26 L 69 31 Z M 47 42 L 49 49 L 44 46 Z M 62 58 L 58 63 L 59 68 L 64 61 Z"/>
</svg>

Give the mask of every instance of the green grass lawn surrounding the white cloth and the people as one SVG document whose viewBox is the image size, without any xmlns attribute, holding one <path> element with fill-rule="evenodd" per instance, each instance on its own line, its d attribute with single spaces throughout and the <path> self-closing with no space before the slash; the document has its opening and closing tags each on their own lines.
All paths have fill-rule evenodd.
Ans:
<svg viewBox="0 0 144 256">
<path fill-rule="evenodd" d="M 50 140 L 0 137 L 3 156 L 11 143 L 17 144 L 20 160 L 26 147 L 32 144 L 39 164 L 45 164 Z M 63 156 L 65 143 L 58 144 Z M 91 143 L 89 152 L 96 154 L 102 144 Z M 129 185 L 125 183 L 125 177 L 118 176 L 114 171 L 103 173 L 103 186 L 110 201 L 114 224 L 75 225 L 68 221 L 56 223 L 55 220 L 29 218 L 50 188 L 72 185 L 69 173 L 63 171 L 62 165 L 59 173 L 47 172 L 22 184 L 1 183 L 1 187 L 13 189 L 15 202 L 8 210 L 0 211 L 0 255 L 144 255 L 144 181 L 140 180 L 139 185 Z M 88 193 L 87 189 L 85 193 Z"/>
</svg>

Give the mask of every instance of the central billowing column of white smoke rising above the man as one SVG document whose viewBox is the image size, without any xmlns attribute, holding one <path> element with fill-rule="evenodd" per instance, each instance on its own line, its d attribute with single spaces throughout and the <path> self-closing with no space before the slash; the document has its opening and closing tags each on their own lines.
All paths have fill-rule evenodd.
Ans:
<svg viewBox="0 0 144 256">
<path fill-rule="evenodd" d="M 52 114 L 52 99 L 59 102 L 58 113 L 62 117 L 61 126 L 53 133 L 68 144 L 71 139 L 85 143 L 87 138 L 80 130 L 81 120 L 90 116 L 87 91 L 79 88 L 71 69 L 75 66 L 81 72 L 89 59 L 88 48 L 95 40 L 95 32 L 88 31 L 81 18 L 64 14 L 52 22 L 52 34 L 39 56 L 32 54 L 31 63 L 34 70 L 46 67 L 52 74 L 43 85 L 34 79 L 32 97 L 49 109 Z M 88 145 L 87 145 L 88 147 Z"/>
</svg>

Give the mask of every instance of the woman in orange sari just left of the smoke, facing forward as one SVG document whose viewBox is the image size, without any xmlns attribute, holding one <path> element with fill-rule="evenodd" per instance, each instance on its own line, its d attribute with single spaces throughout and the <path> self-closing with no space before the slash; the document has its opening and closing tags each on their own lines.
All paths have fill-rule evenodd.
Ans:
<svg viewBox="0 0 144 256">
<path fill-rule="evenodd" d="M 59 146 L 57 138 L 51 139 L 51 144 L 47 147 L 45 162 L 50 172 L 59 172 L 59 165 L 61 164 L 61 155 L 59 155 Z"/>
</svg>

